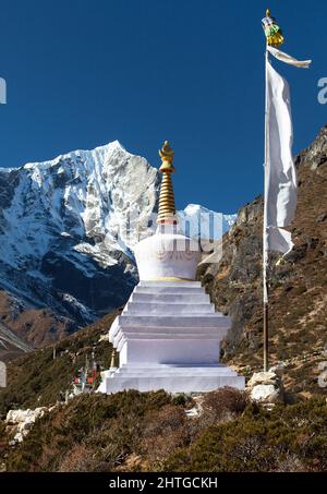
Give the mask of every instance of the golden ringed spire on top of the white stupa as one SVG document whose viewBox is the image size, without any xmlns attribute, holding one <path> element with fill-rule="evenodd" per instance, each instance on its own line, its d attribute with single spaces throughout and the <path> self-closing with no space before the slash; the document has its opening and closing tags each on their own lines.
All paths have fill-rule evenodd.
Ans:
<svg viewBox="0 0 327 494">
<path fill-rule="evenodd" d="M 159 194 L 159 210 L 157 224 L 173 225 L 175 219 L 174 196 L 172 189 L 171 173 L 174 172 L 172 165 L 174 152 L 171 149 L 169 142 L 166 141 L 162 148 L 159 150 L 161 166 L 159 168 L 162 173 L 162 181 Z"/>
</svg>

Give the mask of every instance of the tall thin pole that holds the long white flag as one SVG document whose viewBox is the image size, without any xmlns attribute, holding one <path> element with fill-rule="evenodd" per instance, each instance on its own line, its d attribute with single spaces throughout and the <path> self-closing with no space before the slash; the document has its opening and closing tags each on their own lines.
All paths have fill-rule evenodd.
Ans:
<svg viewBox="0 0 327 494">
<path fill-rule="evenodd" d="M 263 310 L 264 310 L 264 371 L 269 368 L 269 308 L 268 308 L 268 245 L 267 245 L 267 161 L 268 161 L 268 49 L 265 53 L 265 165 L 264 165 L 264 225 L 263 225 Z"/>
</svg>

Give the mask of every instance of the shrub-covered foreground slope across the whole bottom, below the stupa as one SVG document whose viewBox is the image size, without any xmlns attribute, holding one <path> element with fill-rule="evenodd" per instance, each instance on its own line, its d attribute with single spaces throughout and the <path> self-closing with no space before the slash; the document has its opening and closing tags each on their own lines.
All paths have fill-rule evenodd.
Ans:
<svg viewBox="0 0 327 494">
<path fill-rule="evenodd" d="M 7 471 L 326 471 L 327 408 L 314 398 L 272 411 L 244 393 L 207 394 L 194 402 L 164 391 L 82 395 L 59 405 L 23 443 L 9 446 L 0 423 Z M 2 460 L 1 460 L 2 458 Z"/>
</svg>

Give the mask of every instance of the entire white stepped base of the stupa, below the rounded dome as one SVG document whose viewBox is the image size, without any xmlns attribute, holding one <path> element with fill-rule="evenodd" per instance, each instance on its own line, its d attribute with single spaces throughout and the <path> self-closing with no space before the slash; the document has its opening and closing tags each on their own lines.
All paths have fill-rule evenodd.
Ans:
<svg viewBox="0 0 327 494">
<path fill-rule="evenodd" d="M 244 389 L 244 377 L 218 363 L 230 324 L 198 281 L 141 281 L 110 328 L 119 368 L 104 373 L 99 391 Z"/>
</svg>

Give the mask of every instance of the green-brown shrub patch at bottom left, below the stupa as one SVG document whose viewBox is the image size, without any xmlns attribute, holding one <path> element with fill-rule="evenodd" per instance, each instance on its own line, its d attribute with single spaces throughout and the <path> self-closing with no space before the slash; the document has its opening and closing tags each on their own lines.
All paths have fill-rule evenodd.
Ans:
<svg viewBox="0 0 327 494">
<path fill-rule="evenodd" d="M 87 462 L 82 458 L 83 448 L 77 448 L 76 468 L 88 465 L 94 470 L 101 465 L 110 471 L 120 463 L 121 456 L 137 448 L 146 414 L 170 403 L 171 397 L 162 390 L 81 395 L 36 422 L 24 442 L 10 451 L 8 470 L 65 469 L 73 465 L 72 448 L 84 444 L 85 451 L 97 454 Z"/>
</svg>

